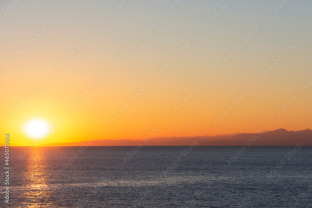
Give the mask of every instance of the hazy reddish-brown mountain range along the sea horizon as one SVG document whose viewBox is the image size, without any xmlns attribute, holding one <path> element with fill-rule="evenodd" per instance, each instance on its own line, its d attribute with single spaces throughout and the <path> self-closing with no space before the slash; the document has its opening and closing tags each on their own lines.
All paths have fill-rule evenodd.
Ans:
<svg viewBox="0 0 312 208">
<path fill-rule="evenodd" d="M 48 143 L 41 146 L 189 146 L 192 141 L 199 143 L 199 146 L 243 146 L 247 145 L 248 140 L 253 139 L 252 145 L 312 145 L 312 130 L 305 129 L 301 131 L 287 131 L 286 129 L 277 129 L 274 131 L 265 131 L 256 133 L 234 133 L 216 136 L 196 136 L 196 137 L 156 137 L 149 140 L 131 140 L 131 139 L 105 139 L 94 140 L 92 142 L 72 142 L 72 143 Z M 251 140 L 252 141 L 252 140 Z"/>
</svg>

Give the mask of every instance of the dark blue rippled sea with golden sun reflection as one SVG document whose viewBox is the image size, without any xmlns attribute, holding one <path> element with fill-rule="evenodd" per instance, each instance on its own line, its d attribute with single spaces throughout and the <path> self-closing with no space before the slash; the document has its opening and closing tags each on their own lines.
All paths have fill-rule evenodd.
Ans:
<svg viewBox="0 0 312 208">
<path fill-rule="evenodd" d="M 6 207 L 312 207 L 312 146 L 11 147 L 9 162 Z"/>
</svg>

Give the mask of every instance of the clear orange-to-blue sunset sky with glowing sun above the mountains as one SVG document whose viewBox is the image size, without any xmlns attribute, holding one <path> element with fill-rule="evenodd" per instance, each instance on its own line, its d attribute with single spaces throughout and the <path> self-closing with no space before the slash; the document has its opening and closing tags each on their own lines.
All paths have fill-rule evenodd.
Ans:
<svg viewBox="0 0 312 208">
<path fill-rule="evenodd" d="M 12 145 L 311 128 L 311 1 L 13 2 L 0 2 Z"/>
</svg>

